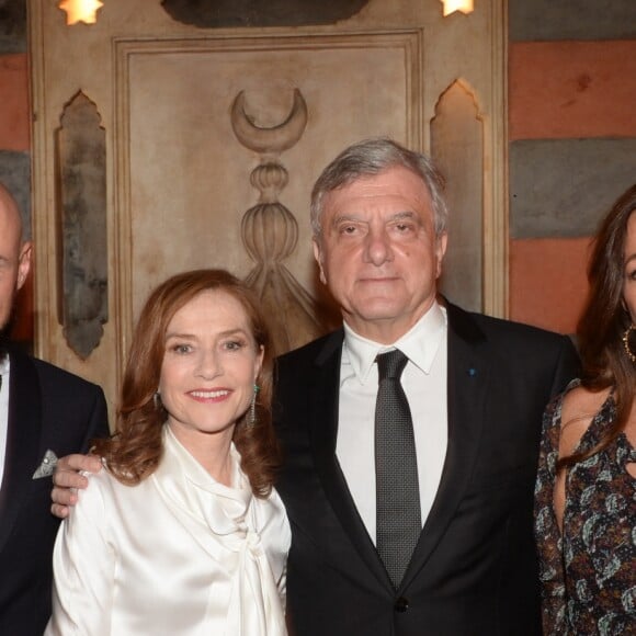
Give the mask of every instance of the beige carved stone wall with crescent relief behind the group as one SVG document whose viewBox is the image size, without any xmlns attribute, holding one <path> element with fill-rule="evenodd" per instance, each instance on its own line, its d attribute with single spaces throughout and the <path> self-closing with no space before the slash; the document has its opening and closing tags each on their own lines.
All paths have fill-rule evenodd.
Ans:
<svg viewBox="0 0 636 636">
<path fill-rule="evenodd" d="M 139 308 L 174 272 L 225 266 L 248 279 L 279 308 L 281 350 L 325 328 L 309 192 L 327 162 L 364 137 L 433 149 L 453 181 L 466 158 L 452 128 L 472 122 L 482 163 L 453 209 L 481 223 L 477 296 L 487 311 L 506 311 L 504 2 L 480 0 L 447 18 L 439 0 L 327 2 L 318 12 L 309 3 L 313 18 L 298 19 L 305 4 L 279 0 L 275 26 L 214 26 L 178 18 L 182 2 L 107 0 L 95 24 L 68 26 L 57 2 L 29 0 L 36 310 L 63 293 L 55 135 L 78 91 L 105 135 L 107 322 L 82 357 L 57 317 L 38 311 L 36 351 L 102 384 L 111 401 Z M 336 9 L 349 13 L 327 15 Z M 241 93 L 242 122 L 257 133 L 287 122 L 302 94 L 302 135 L 284 148 L 246 145 L 231 115 Z"/>
</svg>

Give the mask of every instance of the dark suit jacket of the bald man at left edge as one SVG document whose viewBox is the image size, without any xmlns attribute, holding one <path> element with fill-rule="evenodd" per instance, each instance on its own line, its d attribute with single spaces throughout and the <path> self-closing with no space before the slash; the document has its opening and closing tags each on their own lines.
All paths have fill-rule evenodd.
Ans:
<svg viewBox="0 0 636 636">
<path fill-rule="evenodd" d="M 0 634 L 42 636 L 50 615 L 52 478 L 33 479 L 47 450 L 86 452 L 109 432 L 102 389 L 10 350 L 4 476 L 0 489 Z M 87 564 L 90 567 L 90 564 Z"/>
</svg>

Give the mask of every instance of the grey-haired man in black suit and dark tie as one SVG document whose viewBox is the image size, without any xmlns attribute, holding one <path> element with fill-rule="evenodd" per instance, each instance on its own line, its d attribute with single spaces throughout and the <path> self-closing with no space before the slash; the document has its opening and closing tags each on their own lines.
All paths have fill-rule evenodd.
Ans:
<svg viewBox="0 0 636 636">
<path fill-rule="evenodd" d="M 544 407 L 577 367 L 569 339 L 438 296 L 441 179 L 394 141 L 326 168 L 311 226 L 344 325 L 277 364 L 293 633 L 541 634 L 533 489 Z M 64 463 L 58 513 L 91 464 Z"/>
</svg>

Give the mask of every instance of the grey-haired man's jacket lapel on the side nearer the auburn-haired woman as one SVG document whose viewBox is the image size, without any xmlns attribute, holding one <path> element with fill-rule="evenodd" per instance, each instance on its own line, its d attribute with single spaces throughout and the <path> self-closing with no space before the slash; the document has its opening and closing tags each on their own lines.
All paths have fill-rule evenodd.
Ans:
<svg viewBox="0 0 636 636">
<path fill-rule="evenodd" d="M 314 459 L 325 493 L 344 532 L 378 581 L 390 588 L 388 576 L 336 457 L 342 340 L 342 330 L 333 333 L 316 360 L 317 372 L 314 375 L 309 408 Z"/>
</svg>

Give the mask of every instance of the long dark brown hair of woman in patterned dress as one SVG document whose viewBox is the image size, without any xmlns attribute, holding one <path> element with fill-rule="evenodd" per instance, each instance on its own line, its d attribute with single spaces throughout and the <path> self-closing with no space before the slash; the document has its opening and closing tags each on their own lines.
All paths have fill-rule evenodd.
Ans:
<svg viewBox="0 0 636 636">
<path fill-rule="evenodd" d="M 577 328 L 581 384 L 591 391 L 611 387 L 616 419 L 603 432 L 597 446 L 564 457 L 559 462 L 563 466 L 587 459 L 611 444 L 625 429 L 636 397 L 636 366 L 623 343 L 623 334 L 632 325 L 623 300 L 624 251 L 627 223 L 635 211 L 636 184 L 614 203 L 601 222 L 588 265 L 588 298 Z"/>
</svg>

